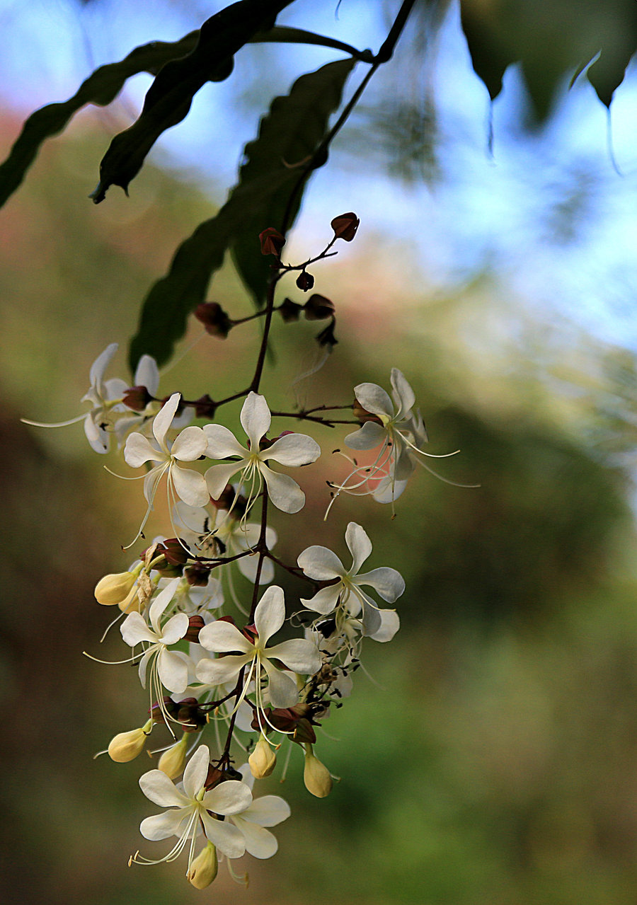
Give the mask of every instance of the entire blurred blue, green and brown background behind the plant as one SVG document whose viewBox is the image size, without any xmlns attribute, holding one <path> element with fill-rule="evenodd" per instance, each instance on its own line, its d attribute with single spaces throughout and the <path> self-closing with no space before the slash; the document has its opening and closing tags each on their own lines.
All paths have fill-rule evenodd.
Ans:
<svg viewBox="0 0 637 905">
<path fill-rule="evenodd" d="M 175 39 L 219 6 L 1 4 L 3 152 L 25 115 L 71 95 L 94 66 L 135 43 Z M 281 22 L 376 47 L 395 4 L 350 0 L 338 15 L 314 7 L 301 0 Z M 295 394 L 348 402 L 357 383 L 387 386 L 400 367 L 432 452 L 461 450 L 440 472 L 480 489 L 422 472 L 394 520 L 372 500 L 344 497 L 324 523 L 325 480 L 343 473 L 329 450 L 345 432 L 315 434 L 328 452 L 304 471 L 306 509 L 276 523 L 278 553 L 293 560 L 324 543 L 345 555 L 347 521 L 363 524 L 371 567 L 404 574 L 402 629 L 389 645 L 367 643 L 367 674 L 319 739 L 342 777 L 328 799 L 305 792 L 300 757 L 282 790 L 269 780 L 292 818 L 276 831 L 275 859 L 244 859 L 247 891 L 224 870 L 197 892 L 179 865 L 127 867 L 143 842 L 138 822 L 153 811 L 137 785 L 151 765 L 91 758 L 139 725 L 145 697 L 126 666 L 81 652 L 123 655 L 114 634 L 98 643 L 110 614 L 92 588 L 128 567 L 120 547 L 144 510 L 141 489 L 102 468 L 81 425 L 38 431 L 19 417 L 79 414 L 90 364 L 110 342 L 121 344 L 111 373 L 125 375 L 140 300 L 223 202 L 261 111 L 300 71 L 335 57 L 247 48 L 233 77 L 202 90 L 166 134 L 130 198 L 111 189 L 96 208 L 87 195 L 110 136 L 138 110 L 149 83 L 139 76 L 111 108 L 83 111 L 48 142 L 0 212 L 7 901 L 637 899 L 637 82 L 629 71 L 610 129 L 579 84 L 529 129 L 515 68 L 490 109 L 457 7 L 442 5 L 435 22 L 430 14 L 423 4 L 378 73 L 291 239 L 290 255 L 305 257 L 334 215 L 361 217 L 356 242 L 314 271 L 316 290 L 337 305 L 338 347 L 315 378 L 295 383 L 312 365 L 317 325 L 277 323 L 264 387 L 272 407 Z M 233 317 L 250 313 L 230 265 L 209 297 Z M 222 342 L 194 324 L 181 351 L 195 345 L 166 371 L 163 391 L 218 397 L 242 386 L 258 340 L 258 329 L 243 331 Z M 238 406 L 229 414 L 236 422 Z M 116 454 L 106 463 L 126 473 Z"/>
</svg>

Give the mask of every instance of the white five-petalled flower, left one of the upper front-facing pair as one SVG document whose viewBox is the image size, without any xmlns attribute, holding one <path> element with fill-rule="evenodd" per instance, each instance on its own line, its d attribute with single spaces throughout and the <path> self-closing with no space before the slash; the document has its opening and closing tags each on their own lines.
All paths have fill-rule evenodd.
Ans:
<svg viewBox="0 0 637 905">
<path fill-rule="evenodd" d="M 204 455 L 208 442 L 202 428 L 185 427 L 173 443 L 166 440 L 166 433 L 175 416 L 179 398 L 179 393 L 171 395 L 153 419 L 154 443 L 141 433 L 131 433 L 124 447 L 124 459 L 132 468 L 139 468 L 144 462 L 157 462 L 144 478 L 144 496 L 148 502 L 148 509 L 139 533 L 144 529 L 153 508 L 157 485 L 166 473 L 170 502 L 174 502 L 176 497 L 190 506 L 204 506 L 208 502 L 204 476 L 191 469 L 181 468 L 177 464 L 195 462 Z"/>
</svg>

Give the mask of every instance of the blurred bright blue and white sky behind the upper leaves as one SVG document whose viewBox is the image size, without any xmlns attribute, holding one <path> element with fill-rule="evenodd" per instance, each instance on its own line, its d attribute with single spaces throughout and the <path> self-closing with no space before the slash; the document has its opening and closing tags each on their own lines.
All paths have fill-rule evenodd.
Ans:
<svg viewBox="0 0 637 905">
<path fill-rule="evenodd" d="M 71 0 L 0 0 L 5 34 L 0 84 L 5 102 L 27 112 L 63 100 L 92 68 L 124 56 L 154 38 L 173 40 L 194 27 L 220 3 L 100 0 L 78 12 Z M 188 10 L 188 11 L 186 11 Z M 193 13 L 193 10 L 195 12 Z M 324 4 L 298 0 L 281 17 L 331 34 L 359 47 L 376 48 L 385 24 L 378 5 L 362 0 Z M 234 78 L 206 86 L 191 114 L 171 129 L 157 148 L 158 160 L 188 176 L 232 186 L 245 141 L 255 134 L 258 114 L 242 102 L 246 74 L 267 62 L 271 95 L 287 90 L 302 71 L 340 54 L 319 48 L 286 47 L 277 52 L 242 52 Z M 391 64 L 390 64 L 391 65 Z M 353 77 L 352 85 L 361 78 Z M 377 79 L 385 78 L 379 73 Z M 386 78 L 391 79 L 389 67 Z M 452 5 L 436 47 L 435 62 L 423 75 L 436 102 L 442 178 L 434 185 L 404 183 L 386 175 L 382 163 L 359 161 L 336 147 L 329 166 L 314 177 L 300 228 L 311 233 L 338 210 L 357 211 L 367 228 L 404 237 L 433 285 L 456 286 L 490 267 L 522 300 L 536 309 L 575 319 L 598 338 L 637 348 L 637 80 L 634 73 L 616 92 L 612 108 L 613 153 L 608 150 L 606 110 L 583 80 L 566 92 L 556 117 L 536 136 L 520 127 L 523 90 L 509 69 L 493 109 L 494 148 L 487 149 L 488 95 L 471 70 Z M 150 78 L 132 80 L 125 104 L 133 113 Z M 423 85 L 410 86 L 417 97 Z M 366 99 L 373 102 L 374 90 Z M 214 128 L 211 129 L 211 123 Z M 224 191 L 222 187 L 222 192 Z M 223 196 L 223 195 L 222 195 Z M 575 230 L 566 238 L 556 229 L 560 211 L 574 204 Z"/>
</svg>

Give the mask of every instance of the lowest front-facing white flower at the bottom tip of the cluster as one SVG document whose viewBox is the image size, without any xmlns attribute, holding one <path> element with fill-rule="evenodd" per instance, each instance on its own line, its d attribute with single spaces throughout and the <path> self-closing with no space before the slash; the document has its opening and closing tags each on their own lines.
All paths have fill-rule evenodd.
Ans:
<svg viewBox="0 0 637 905">
<path fill-rule="evenodd" d="M 245 840 L 241 831 L 227 820 L 218 820 L 214 814 L 229 816 L 241 814 L 252 804 L 249 786 L 229 779 L 205 791 L 210 751 L 205 745 L 197 748 L 184 771 L 183 791 L 161 770 L 150 770 L 139 777 L 144 795 L 161 807 L 170 808 L 164 814 L 156 814 L 142 820 L 139 832 L 152 842 L 177 836 L 177 842 L 164 858 L 150 861 L 138 854 L 131 862 L 158 864 L 174 861 L 188 841 L 188 873 L 195 851 L 195 839 L 201 826 L 206 839 L 228 858 L 240 858 L 245 852 Z M 212 814 L 210 813 L 212 812 Z"/>
</svg>

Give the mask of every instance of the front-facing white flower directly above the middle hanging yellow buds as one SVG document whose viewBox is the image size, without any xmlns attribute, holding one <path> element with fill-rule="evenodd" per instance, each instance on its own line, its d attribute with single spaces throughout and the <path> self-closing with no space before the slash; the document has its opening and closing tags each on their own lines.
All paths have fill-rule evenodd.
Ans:
<svg viewBox="0 0 637 905">
<path fill-rule="evenodd" d="M 280 672 L 272 660 L 280 660 L 292 672 L 301 675 L 313 675 L 321 665 L 319 649 L 316 644 L 303 638 L 293 638 L 266 647 L 271 636 L 278 632 L 285 621 L 285 599 L 282 589 L 273 585 L 269 587 L 254 611 L 254 625 L 257 637 L 254 643 L 248 641 L 239 629 L 228 622 L 217 620 L 204 625 L 199 632 L 199 643 L 214 653 L 241 653 L 219 657 L 216 660 L 201 660 L 196 674 L 199 681 L 215 685 L 236 680 L 242 670 L 244 672 L 242 700 L 248 685 L 254 681 L 256 687 L 257 706 L 263 709 L 261 692 L 261 670 L 268 678 L 268 697 L 272 707 L 292 707 L 296 704 L 299 692 L 295 679 L 287 672 Z"/>
</svg>

